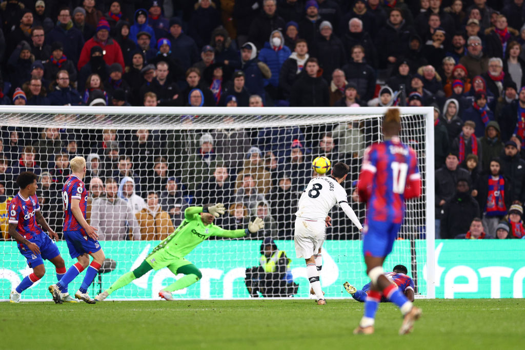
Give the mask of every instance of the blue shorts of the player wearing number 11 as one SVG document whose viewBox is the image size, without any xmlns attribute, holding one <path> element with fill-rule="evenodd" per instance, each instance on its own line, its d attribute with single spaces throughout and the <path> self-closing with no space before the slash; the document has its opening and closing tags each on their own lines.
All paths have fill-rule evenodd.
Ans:
<svg viewBox="0 0 525 350">
<path fill-rule="evenodd" d="M 363 236 L 363 254 L 365 257 L 384 258 L 392 251 L 397 232 L 401 224 L 367 220 Z"/>
</svg>

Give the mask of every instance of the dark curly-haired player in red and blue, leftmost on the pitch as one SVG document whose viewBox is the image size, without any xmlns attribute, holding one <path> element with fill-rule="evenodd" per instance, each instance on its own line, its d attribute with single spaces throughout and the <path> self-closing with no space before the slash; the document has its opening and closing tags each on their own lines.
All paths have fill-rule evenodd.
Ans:
<svg viewBox="0 0 525 350">
<path fill-rule="evenodd" d="M 16 179 L 16 184 L 20 190 L 9 204 L 8 230 L 9 235 L 18 242 L 18 250 L 26 258 L 27 265 L 33 269 L 33 272 L 11 291 L 9 301 L 12 303 L 18 303 L 20 293 L 44 277 L 46 273 L 44 259 L 55 265 L 58 280 L 66 273 L 64 259 L 60 256 L 60 251 L 58 251 L 55 242 L 49 238 L 51 236 L 58 239 L 58 235 L 49 227 L 40 212 L 38 198 L 35 195 L 38 188 L 36 175 L 31 172 L 20 173 Z M 37 222 L 49 233 L 49 236 L 38 227 Z M 62 301 L 75 302 L 75 299 L 67 293 L 67 289 L 64 292 L 60 303 Z"/>
</svg>

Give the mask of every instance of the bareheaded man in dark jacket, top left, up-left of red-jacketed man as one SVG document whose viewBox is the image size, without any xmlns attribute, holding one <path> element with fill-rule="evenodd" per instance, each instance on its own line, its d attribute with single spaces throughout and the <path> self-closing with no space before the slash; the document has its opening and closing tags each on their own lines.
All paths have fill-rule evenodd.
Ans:
<svg viewBox="0 0 525 350">
<path fill-rule="evenodd" d="M 60 10 L 57 25 L 49 34 L 46 34 L 47 43 L 55 43 L 56 41 L 62 43 L 64 55 L 71 62 L 78 62 L 85 40 L 82 32 L 73 25 L 71 12 L 68 8 Z"/>
</svg>

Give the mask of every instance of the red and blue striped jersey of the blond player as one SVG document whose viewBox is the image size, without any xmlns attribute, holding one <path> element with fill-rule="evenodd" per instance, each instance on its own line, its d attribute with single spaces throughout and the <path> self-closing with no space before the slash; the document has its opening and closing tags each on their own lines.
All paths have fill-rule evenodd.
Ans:
<svg viewBox="0 0 525 350">
<path fill-rule="evenodd" d="M 79 207 L 82 215 L 86 218 L 86 207 L 88 200 L 88 191 L 84 183 L 76 175 L 70 175 L 62 187 L 62 204 L 64 204 L 64 231 L 76 231 L 82 229 L 75 215 L 71 211 L 71 200 L 79 199 Z"/>
</svg>

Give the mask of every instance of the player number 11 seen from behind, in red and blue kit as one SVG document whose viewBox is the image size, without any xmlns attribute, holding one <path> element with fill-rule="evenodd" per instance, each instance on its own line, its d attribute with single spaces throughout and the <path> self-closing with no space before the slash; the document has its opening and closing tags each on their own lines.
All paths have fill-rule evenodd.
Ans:
<svg viewBox="0 0 525 350">
<path fill-rule="evenodd" d="M 401 142 L 400 131 L 399 110 L 389 109 L 383 117 L 384 141 L 366 149 L 359 175 L 359 200 L 366 202 L 363 255 L 370 291 L 354 334 L 374 333 L 375 313 L 382 296 L 396 304 L 404 315 L 399 334 L 411 332 L 414 321 L 422 314 L 383 270 L 403 223 L 405 199 L 421 196 L 416 152 Z"/>
</svg>

